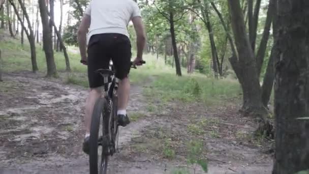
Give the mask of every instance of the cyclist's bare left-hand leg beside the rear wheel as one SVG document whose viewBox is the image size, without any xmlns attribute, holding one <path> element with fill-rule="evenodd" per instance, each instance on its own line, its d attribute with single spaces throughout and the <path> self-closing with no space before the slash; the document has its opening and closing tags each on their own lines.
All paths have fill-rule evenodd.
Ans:
<svg viewBox="0 0 309 174">
<path fill-rule="evenodd" d="M 92 88 L 90 89 L 89 96 L 86 100 L 85 108 L 85 127 L 86 127 L 86 136 L 90 135 L 90 125 L 91 125 L 91 115 L 94 110 L 96 101 L 101 96 L 101 88 Z"/>
</svg>

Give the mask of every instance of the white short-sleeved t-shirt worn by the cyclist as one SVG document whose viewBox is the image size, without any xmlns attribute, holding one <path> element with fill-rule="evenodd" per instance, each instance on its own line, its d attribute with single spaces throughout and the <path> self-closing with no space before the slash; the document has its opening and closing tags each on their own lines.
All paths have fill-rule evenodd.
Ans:
<svg viewBox="0 0 309 174">
<path fill-rule="evenodd" d="M 92 35 L 119 33 L 129 37 L 127 25 L 135 16 L 141 16 L 133 0 L 92 0 L 85 11 L 91 17 L 87 43 Z"/>
</svg>

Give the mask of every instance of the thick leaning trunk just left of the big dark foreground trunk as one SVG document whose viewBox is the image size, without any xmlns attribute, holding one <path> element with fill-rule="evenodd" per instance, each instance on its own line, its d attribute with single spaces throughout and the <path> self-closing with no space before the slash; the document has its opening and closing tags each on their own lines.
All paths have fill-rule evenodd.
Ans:
<svg viewBox="0 0 309 174">
<path fill-rule="evenodd" d="M 245 114 L 255 115 L 266 121 L 266 109 L 261 100 L 256 61 L 249 38 L 246 35 L 239 0 L 228 1 L 228 5 L 238 51 L 238 60 L 237 57 L 234 57 L 234 61 L 230 61 L 243 92 L 242 110 Z"/>
</svg>

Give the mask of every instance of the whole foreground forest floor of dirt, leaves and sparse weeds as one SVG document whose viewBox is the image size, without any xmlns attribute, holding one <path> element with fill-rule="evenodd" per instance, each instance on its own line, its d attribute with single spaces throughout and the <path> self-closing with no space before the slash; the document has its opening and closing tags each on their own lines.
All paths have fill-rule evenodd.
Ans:
<svg viewBox="0 0 309 174">
<path fill-rule="evenodd" d="M 120 130 L 109 173 L 271 173 L 270 142 L 253 136 L 256 123 L 238 102 L 151 100 L 150 76 L 132 85 L 132 123 Z M 88 173 L 82 152 L 87 89 L 28 72 L 0 83 L 0 173 Z M 157 107 L 160 106 L 160 107 Z M 185 172 L 187 171 L 187 172 Z"/>
</svg>

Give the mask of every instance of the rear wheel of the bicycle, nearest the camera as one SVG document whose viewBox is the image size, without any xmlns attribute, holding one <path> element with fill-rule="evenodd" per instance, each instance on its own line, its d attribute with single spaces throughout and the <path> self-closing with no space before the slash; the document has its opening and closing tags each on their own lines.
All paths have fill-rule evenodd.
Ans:
<svg viewBox="0 0 309 174">
<path fill-rule="evenodd" d="M 89 139 L 89 169 L 90 174 L 106 174 L 108 164 L 108 122 L 105 116 L 108 110 L 106 99 L 99 98 L 95 104 L 91 119 L 90 139 Z"/>
</svg>

